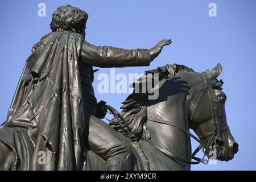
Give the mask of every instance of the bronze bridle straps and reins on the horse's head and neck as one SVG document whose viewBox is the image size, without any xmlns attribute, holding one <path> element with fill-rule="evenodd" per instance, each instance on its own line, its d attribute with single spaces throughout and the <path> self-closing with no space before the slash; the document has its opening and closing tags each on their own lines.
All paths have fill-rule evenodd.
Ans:
<svg viewBox="0 0 256 182">
<path fill-rule="evenodd" d="M 180 131 L 182 131 L 184 134 L 188 135 L 189 137 L 192 137 L 193 139 L 196 140 L 196 142 L 199 143 L 199 146 L 195 149 L 195 151 L 192 153 L 191 158 L 193 160 L 196 160 L 195 162 L 193 161 L 189 161 L 183 158 L 180 158 L 179 156 L 177 156 L 176 154 L 173 154 L 171 151 L 166 150 L 165 148 L 159 146 L 156 143 L 153 143 L 150 139 L 142 136 L 142 139 L 146 140 L 148 143 L 150 143 L 152 146 L 154 146 L 155 148 L 157 148 L 159 151 L 163 152 L 164 154 L 170 156 L 171 158 L 178 160 L 180 162 L 183 163 L 187 163 L 187 164 L 200 164 L 200 163 L 204 163 L 204 164 L 208 164 L 209 160 L 210 160 L 210 156 L 207 154 L 207 150 L 209 150 L 210 145 L 214 144 L 215 146 L 215 152 L 217 157 L 220 157 L 222 155 L 222 146 L 220 146 L 220 141 L 222 140 L 222 132 L 225 130 L 228 130 L 229 127 L 225 126 L 223 128 L 220 127 L 220 123 L 222 122 L 222 118 L 219 117 L 220 114 L 220 108 L 218 108 L 218 100 L 216 95 L 213 92 L 213 88 L 214 88 L 214 84 L 216 84 L 216 80 L 213 80 L 212 78 L 209 78 L 209 76 L 206 73 L 201 73 L 201 75 L 204 78 L 204 83 L 205 83 L 205 87 L 203 92 L 201 92 L 199 99 L 196 102 L 195 107 L 192 110 L 191 113 L 191 121 L 196 113 L 197 107 L 199 106 L 201 99 L 203 98 L 204 94 L 208 94 L 209 96 L 209 101 L 210 101 L 210 109 L 212 111 L 212 119 L 210 120 L 211 124 L 213 125 L 213 131 L 210 131 L 207 134 L 204 135 L 200 135 L 199 138 L 197 138 L 195 135 L 193 135 L 192 133 L 190 133 L 188 130 L 182 129 L 181 127 L 170 123 L 169 121 L 165 121 L 162 119 L 147 119 L 148 121 L 152 121 L 152 122 L 156 122 L 156 123 L 162 123 L 164 125 L 168 125 L 168 126 L 172 126 L 175 127 L 177 129 L 179 129 Z M 215 86 L 216 87 L 216 86 Z M 220 88 L 219 88 L 220 89 Z M 110 112 L 114 115 L 115 118 L 118 119 L 119 121 L 119 125 L 122 125 L 122 122 L 125 122 L 125 125 L 127 126 L 127 121 L 125 118 L 122 117 L 122 114 L 120 114 L 117 110 L 115 110 L 112 106 L 106 105 L 106 108 L 110 110 Z M 205 143 L 202 141 L 202 139 L 210 137 L 208 142 Z M 204 147 L 205 146 L 205 147 Z M 203 158 L 197 158 L 195 155 L 202 149 L 203 151 Z M 205 159 L 205 156 L 207 156 L 208 159 Z"/>
</svg>

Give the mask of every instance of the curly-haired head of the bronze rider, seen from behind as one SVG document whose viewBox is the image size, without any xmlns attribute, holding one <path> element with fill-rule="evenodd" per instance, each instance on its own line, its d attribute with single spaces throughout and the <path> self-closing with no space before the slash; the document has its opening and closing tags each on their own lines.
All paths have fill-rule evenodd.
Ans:
<svg viewBox="0 0 256 182">
<path fill-rule="evenodd" d="M 85 25 L 88 14 L 71 5 L 60 6 L 52 14 L 50 27 L 53 32 L 70 31 L 81 34 L 85 38 Z"/>
</svg>

